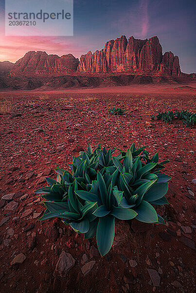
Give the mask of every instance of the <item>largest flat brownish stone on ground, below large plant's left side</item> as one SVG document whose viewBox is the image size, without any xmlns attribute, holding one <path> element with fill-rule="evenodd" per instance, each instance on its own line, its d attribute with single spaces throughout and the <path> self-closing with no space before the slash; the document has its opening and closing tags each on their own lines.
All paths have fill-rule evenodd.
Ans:
<svg viewBox="0 0 196 293">
<path fill-rule="evenodd" d="M 74 266 L 74 264 L 75 259 L 72 257 L 72 255 L 68 252 L 62 251 L 53 275 L 60 275 L 61 277 L 65 277 L 67 272 Z"/>
</svg>

